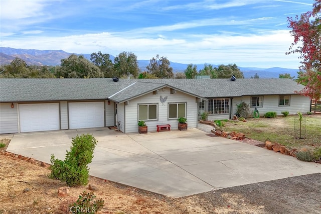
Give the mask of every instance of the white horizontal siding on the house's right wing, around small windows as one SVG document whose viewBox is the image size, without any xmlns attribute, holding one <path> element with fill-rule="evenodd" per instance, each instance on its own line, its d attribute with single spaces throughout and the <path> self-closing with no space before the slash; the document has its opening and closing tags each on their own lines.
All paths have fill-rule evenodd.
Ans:
<svg viewBox="0 0 321 214">
<path fill-rule="evenodd" d="M 233 99 L 233 115 L 237 111 L 237 104 L 241 101 L 251 105 L 251 96 L 236 97 Z M 254 107 L 250 108 L 251 117 Z M 260 116 L 263 117 L 267 112 L 276 112 L 277 115 L 282 115 L 281 112 L 288 111 L 290 115 L 295 115 L 297 112 L 306 113 L 310 111 L 310 98 L 299 94 L 290 95 L 290 105 L 279 106 L 279 95 L 263 96 L 263 107 L 257 107 Z"/>
</svg>

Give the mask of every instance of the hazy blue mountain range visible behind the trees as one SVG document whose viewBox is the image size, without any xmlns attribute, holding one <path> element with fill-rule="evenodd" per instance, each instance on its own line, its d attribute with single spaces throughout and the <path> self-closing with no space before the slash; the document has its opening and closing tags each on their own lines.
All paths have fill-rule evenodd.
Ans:
<svg viewBox="0 0 321 214">
<path fill-rule="evenodd" d="M 23 59 L 29 65 L 60 65 L 61 59 L 68 58 L 72 53 L 65 52 L 63 50 L 36 50 L 36 49 L 16 49 L 9 47 L 0 47 L 0 65 L 10 64 L 16 57 Z M 90 54 L 76 54 L 83 55 L 86 59 L 90 60 Z M 110 55 L 110 59 L 113 61 L 114 56 Z M 149 60 L 138 60 L 139 68 L 145 70 L 149 64 Z M 188 64 L 171 62 L 171 67 L 174 73 L 184 72 Z M 204 64 L 196 64 L 197 69 L 204 68 Z M 213 65 L 218 67 L 218 65 Z M 243 72 L 245 78 L 254 76 L 255 73 L 260 78 L 278 78 L 279 74 L 289 73 L 291 76 L 297 77 L 298 69 L 290 68 L 257 68 L 257 67 L 239 67 Z"/>
</svg>

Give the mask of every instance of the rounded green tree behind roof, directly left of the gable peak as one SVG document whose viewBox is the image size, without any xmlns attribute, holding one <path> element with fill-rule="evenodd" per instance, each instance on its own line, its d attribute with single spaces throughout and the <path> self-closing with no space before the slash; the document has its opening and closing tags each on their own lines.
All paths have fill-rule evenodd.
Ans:
<svg viewBox="0 0 321 214">
<path fill-rule="evenodd" d="M 114 70 L 115 74 L 119 77 L 125 77 L 131 74 L 136 78 L 139 73 L 137 56 L 131 52 L 121 52 L 114 59 Z"/>
</svg>

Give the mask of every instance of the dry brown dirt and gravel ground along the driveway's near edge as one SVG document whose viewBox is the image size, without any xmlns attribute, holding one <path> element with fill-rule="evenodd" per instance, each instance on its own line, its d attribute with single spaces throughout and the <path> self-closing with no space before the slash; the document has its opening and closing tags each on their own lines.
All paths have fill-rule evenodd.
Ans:
<svg viewBox="0 0 321 214">
<path fill-rule="evenodd" d="M 71 187 L 48 178 L 50 170 L 40 162 L 0 152 L 0 214 L 70 213 L 69 204 L 87 186 Z M 321 172 L 321 165 L 320 165 Z M 172 198 L 90 177 L 104 206 L 98 213 L 321 213 L 321 173 L 213 190 Z"/>
</svg>

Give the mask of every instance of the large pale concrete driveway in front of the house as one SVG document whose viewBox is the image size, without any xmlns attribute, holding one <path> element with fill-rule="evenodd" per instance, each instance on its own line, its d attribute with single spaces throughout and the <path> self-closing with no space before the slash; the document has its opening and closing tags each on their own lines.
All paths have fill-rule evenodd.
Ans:
<svg viewBox="0 0 321 214">
<path fill-rule="evenodd" d="M 15 134 L 7 151 L 47 163 L 52 153 L 63 160 L 71 138 L 83 133 L 98 140 L 89 165 L 91 175 L 173 197 L 321 172 L 320 164 L 211 137 L 200 129 L 123 134 L 98 128 Z"/>
</svg>

